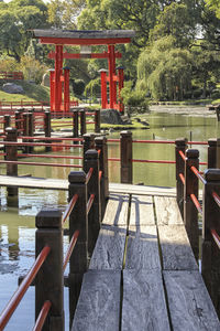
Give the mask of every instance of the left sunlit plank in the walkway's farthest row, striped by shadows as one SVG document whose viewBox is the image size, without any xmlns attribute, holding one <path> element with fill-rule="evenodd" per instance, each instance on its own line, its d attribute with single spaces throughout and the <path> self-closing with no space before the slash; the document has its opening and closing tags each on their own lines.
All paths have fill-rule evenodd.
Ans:
<svg viewBox="0 0 220 331">
<path fill-rule="evenodd" d="M 128 211 L 128 194 L 110 194 L 102 223 L 114 226 L 127 225 Z"/>
</svg>

